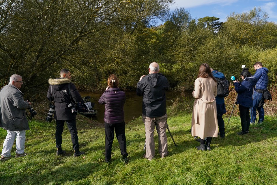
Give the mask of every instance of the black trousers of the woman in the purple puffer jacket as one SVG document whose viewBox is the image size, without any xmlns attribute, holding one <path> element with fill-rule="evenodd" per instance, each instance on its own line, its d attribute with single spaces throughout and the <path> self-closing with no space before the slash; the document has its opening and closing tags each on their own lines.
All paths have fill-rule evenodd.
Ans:
<svg viewBox="0 0 277 185">
<path fill-rule="evenodd" d="M 125 122 L 123 121 L 122 123 L 115 124 L 105 123 L 105 134 L 105 160 L 111 160 L 112 145 L 115 135 L 120 146 L 121 155 L 127 157 Z"/>
</svg>

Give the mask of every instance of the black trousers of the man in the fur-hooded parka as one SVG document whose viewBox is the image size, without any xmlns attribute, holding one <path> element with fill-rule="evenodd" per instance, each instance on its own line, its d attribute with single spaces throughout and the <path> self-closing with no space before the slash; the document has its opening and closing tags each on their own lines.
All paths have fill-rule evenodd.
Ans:
<svg viewBox="0 0 277 185">
<path fill-rule="evenodd" d="M 67 123 L 68 129 L 70 131 L 73 149 L 74 150 L 79 149 L 79 140 L 78 140 L 78 132 L 77 132 L 77 128 L 76 128 L 76 119 L 67 120 L 67 121 L 56 119 L 56 124 L 57 124 L 57 126 L 56 126 L 56 147 L 61 148 L 61 143 L 62 143 L 61 134 L 63 133 L 64 122 Z"/>
</svg>

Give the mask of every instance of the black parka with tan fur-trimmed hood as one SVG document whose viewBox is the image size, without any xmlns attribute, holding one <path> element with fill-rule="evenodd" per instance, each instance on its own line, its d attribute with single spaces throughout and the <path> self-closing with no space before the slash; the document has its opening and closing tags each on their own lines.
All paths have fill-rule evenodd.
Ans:
<svg viewBox="0 0 277 185">
<path fill-rule="evenodd" d="M 70 82 L 67 78 L 56 78 L 48 80 L 50 86 L 47 92 L 47 99 L 55 102 L 55 113 L 54 118 L 57 120 L 72 120 L 76 118 L 76 114 L 71 113 L 71 109 L 68 108 L 68 104 L 80 102 L 82 97 L 75 85 Z M 71 97 L 69 95 L 69 87 Z M 51 86 L 52 86 L 52 97 L 51 97 Z"/>
</svg>

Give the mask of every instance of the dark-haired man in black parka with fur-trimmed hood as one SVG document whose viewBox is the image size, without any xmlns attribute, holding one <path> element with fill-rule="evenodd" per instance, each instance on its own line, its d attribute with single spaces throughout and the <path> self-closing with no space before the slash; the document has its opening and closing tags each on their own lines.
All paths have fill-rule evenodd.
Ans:
<svg viewBox="0 0 277 185">
<path fill-rule="evenodd" d="M 71 140 L 74 149 L 74 157 L 80 156 L 85 152 L 79 151 L 78 132 L 76 128 L 76 113 L 72 112 L 72 109 L 68 107 L 70 103 L 80 102 L 82 97 L 75 85 L 70 82 L 71 73 L 67 69 L 62 69 L 60 72 L 61 77 L 56 79 L 49 79 L 50 84 L 47 99 L 54 101 L 55 113 L 54 118 L 56 120 L 56 155 L 65 153 L 61 147 L 64 121 L 67 123 L 70 131 Z M 74 102 L 75 101 L 75 102 Z"/>
</svg>

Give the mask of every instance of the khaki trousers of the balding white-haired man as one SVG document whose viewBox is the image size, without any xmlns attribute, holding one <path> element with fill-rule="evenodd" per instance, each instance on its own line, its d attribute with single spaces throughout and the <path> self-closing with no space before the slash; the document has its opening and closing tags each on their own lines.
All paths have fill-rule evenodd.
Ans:
<svg viewBox="0 0 277 185">
<path fill-rule="evenodd" d="M 153 159 L 155 156 L 155 143 L 154 143 L 154 128 L 156 126 L 159 138 L 159 153 L 161 157 L 167 156 L 167 137 L 166 137 L 166 122 L 167 114 L 161 117 L 149 118 L 142 115 L 142 121 L 145 126 L 145 142 L 146 153 L 145 158 Z"/>
</svg>

